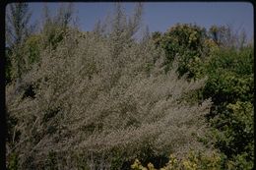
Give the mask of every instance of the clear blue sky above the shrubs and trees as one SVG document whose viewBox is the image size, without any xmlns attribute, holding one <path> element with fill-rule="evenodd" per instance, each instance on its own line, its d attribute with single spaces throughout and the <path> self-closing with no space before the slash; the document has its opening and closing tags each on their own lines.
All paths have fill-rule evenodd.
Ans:
<svg viewBox="0 0 256 170">
<path fill-rule="evenodd" d="M 56 11 L 60 3 L 47 3 Z M 131 14 L 135 3 L 123 3 L 127 14 Z M 43 3 L 30 3 L 32 20 L 40 22 Z M 113 3 L 74 3 L 80 28 L 92 30 L 98 19 L 103 20 L 112 12 Z M 234 30 L 244 28 L 247 35 L 253 35 L 253 6 L 246 2 L 146 2 L 143 24 L 150 31 L 165 31 L 176 23 L 197 24 L 204 28 L 213 25 L 230 25 Z"/>
</svg>

